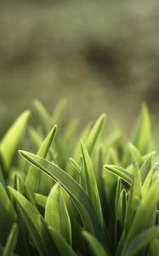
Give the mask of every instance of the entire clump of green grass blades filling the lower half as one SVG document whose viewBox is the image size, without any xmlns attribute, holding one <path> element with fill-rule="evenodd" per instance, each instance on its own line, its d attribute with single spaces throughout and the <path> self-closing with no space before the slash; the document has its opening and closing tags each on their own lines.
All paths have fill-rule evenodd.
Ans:
<svg viewBox="0 0 159 256">
<path fill-rule="evenodd" d="M 34 105 L 41 125 L 26 139 L 37 154 L 15 155 L 30 111 L 0 144 L 0 253 L 158 255 L 159 164 L 147 108 L 128 143 L 103 129 L 105 114 L 77 139 L 77 120 L 62 124 L 64 102 L 53 114 Z"/>
</svg>

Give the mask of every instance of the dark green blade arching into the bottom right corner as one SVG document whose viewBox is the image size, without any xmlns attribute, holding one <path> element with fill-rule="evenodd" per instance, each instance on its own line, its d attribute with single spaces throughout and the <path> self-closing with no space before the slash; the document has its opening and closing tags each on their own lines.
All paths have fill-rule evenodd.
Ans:
<svg viewBox="0 0 159 256">
<path fill-rule="evenodd" d="M 134 256 L 139 253 L 140 249 L 147 246 L 152 239 L 159 236 L 159 227 L 150 227 L 149 229 L 139 233 L 129 243 L 124 256 Z M 157 254 L 156 254 L 157 255 Z"/>
</svg>

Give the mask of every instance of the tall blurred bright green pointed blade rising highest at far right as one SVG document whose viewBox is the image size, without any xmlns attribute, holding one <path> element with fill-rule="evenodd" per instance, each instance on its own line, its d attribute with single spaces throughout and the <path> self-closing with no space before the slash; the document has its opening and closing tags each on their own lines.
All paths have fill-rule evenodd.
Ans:
<svg viewBox="0 0 159 256">
<path fill-rule="evenodd" d="M 141 113 L 139 115 L 138 125 L 133 136 L 133 145 L 139 149 L 139 152 L 143 155 L 146 154 L 150 147 L 151 137 L 151 124 L 150 114 L 145 104 L 143 104 Z"/>
</svg>

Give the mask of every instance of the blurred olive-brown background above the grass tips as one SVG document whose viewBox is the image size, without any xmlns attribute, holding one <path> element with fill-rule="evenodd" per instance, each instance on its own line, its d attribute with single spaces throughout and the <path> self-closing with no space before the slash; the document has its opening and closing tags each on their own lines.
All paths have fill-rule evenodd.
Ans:
<svg viewBox="0 0 159 256">
<path fill-rule="evenodd" d="M 38 98 L 129 129 L 159 110 L 159 1 L 0 0 L 0 133 Z"/>
</svg>

